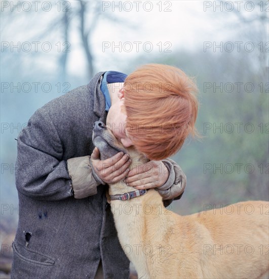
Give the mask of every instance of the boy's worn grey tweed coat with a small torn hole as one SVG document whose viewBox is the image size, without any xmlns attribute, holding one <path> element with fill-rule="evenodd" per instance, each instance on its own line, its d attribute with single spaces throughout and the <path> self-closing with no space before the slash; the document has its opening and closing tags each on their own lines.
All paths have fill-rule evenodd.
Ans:
<svg viewBox="0 0 269 279">
<path fill-rule="evenodd" d="M 91 155 L 93 124 L 106 122 L 103 74 L 38 109 L 18 136 L 12 278 L 94 278 L 100 259 L 105 278 L 129 277 L 129 260 L 106 202 L 107 185 L 91 177 L 89 196 L 75 198 L 67 167 L 68 159 Z M 168 190 L 183 183 L 177 194 L 160 190 L 167 204 L 185 187 L 179 166 L 169 162 Z"/>
</svg>

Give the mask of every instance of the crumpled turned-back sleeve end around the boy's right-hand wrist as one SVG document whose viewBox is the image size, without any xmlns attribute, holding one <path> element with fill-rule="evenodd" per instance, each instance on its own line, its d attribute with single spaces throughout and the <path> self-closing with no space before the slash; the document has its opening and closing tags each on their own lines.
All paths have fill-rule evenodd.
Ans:
<svg viewBox="0 0 269 279">
<path fill-rule="evenodd" d="M 180 199 L 186 187 L 186 176 L 181 167 L 172 159 L 162 160 L 169 170 L 167 182 L 158 188 L 155 188 L 163 197 L 165 206 L 171 204 L 174 199 Z"/>
</svg>

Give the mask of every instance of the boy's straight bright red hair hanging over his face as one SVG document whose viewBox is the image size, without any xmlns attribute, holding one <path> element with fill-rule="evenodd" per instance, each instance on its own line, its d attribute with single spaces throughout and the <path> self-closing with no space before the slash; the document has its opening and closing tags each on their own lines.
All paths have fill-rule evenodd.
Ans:
<svg viewBox="0 0 269 279">
<path fill-rule="evenodd" d="M 196 84 L 180 69 L 147 64 L 124 82 L 127 131 L 150 160 L 175 154 L 188 134 L 197 134 Z"/>
</svg>

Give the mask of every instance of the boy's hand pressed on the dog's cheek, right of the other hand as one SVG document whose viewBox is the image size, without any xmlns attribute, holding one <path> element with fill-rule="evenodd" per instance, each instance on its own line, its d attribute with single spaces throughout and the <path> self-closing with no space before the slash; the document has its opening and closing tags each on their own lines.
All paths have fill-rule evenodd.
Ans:
<svg viewBox="0 0 269 279">
<path fill-rule="evenodd" d="M 169 178 L 169 170 L 162 161 L 149 161 L 129 171 L 124 182 L 137 190 L 163 186 Z"/>
</svg>

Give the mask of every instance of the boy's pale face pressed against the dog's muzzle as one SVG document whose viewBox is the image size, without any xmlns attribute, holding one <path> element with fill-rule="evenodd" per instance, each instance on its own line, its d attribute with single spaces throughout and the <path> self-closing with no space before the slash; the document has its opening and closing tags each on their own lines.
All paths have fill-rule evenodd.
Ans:
<svg viewBox="0 0 269 279">
<path fill-rule="evenodd" d="M 126 129 L 126 118 L 127 115 L 124 107 L 124 99 L 121 98 L 110 107 L 107 113 L 106 127 L 112 131 L 124 147 L 130 147 L 133 145 L 133 142 Z"/>
</svg>

